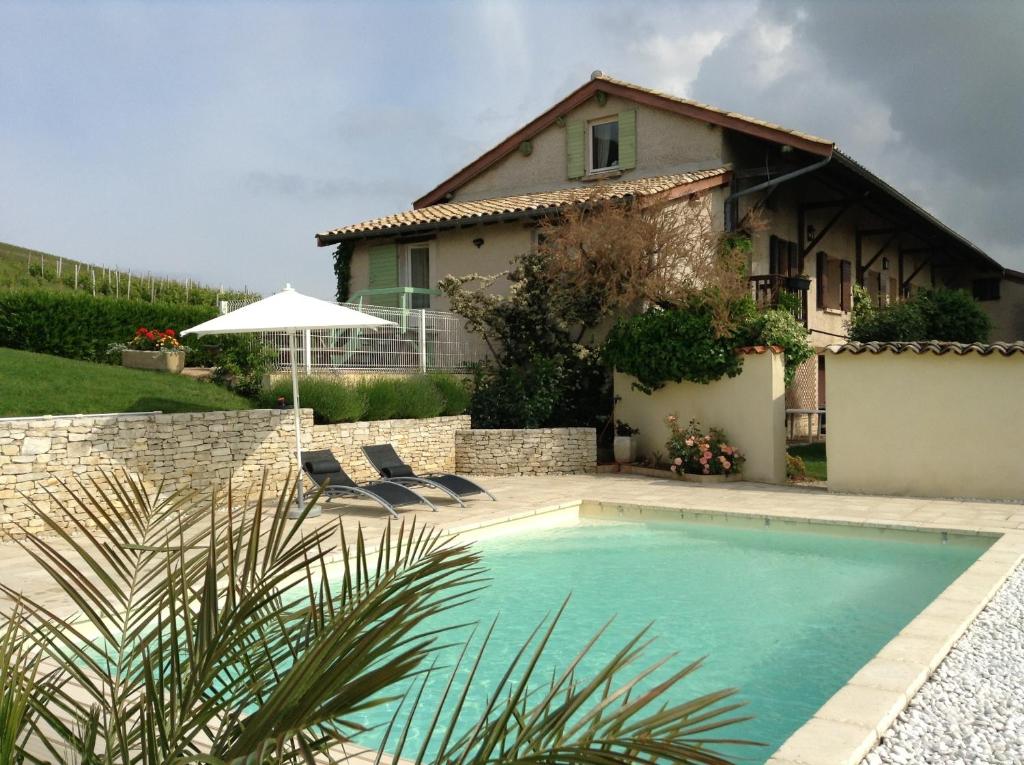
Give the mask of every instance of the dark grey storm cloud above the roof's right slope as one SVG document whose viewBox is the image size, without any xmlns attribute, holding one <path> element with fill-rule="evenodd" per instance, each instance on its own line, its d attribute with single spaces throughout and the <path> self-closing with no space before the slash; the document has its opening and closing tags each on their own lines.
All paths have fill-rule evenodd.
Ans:
<svg viewBox="0 0 1024 765">
<path fill-rule="evenodd" d="M 1024 4 L 768 0 L 691 95 L 835 139 L 1024 268 Z"/>
</svg>

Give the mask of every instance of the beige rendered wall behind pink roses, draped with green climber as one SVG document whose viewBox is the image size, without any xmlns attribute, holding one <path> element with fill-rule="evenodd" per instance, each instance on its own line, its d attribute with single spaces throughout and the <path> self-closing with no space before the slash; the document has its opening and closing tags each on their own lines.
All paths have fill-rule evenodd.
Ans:
<svg viewBox="0 0 1024 765">
<path fill-rule="evenodd" d="M 632 387 L 633 378 L 615 373 L 615 395 L 622 400 L 615 418 L 640 429 L 638 455 L 659 452 L 665 459 L 669 428 L 665 418 L 690 419 L 707 430 L 725 430 L 729 442 L 746 456 L 743 477 L 785 481 L 785 382 L 782 354 L 759 346 L 746 351 L 742 372 L 707 385 L 669 383 L 647 395 Z M 830 435 L 830 433 L 829 433 Z"/>
</svg>

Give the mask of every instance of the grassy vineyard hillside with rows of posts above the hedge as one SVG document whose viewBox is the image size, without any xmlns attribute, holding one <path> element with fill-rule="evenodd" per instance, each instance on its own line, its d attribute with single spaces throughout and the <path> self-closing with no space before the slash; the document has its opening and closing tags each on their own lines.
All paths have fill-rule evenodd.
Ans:
<svg viewBox="0 0 1024 765">
<path fill-rule="evenodd" d="M 152 273 L 104 268 L 0 242 L 0 290 L 27 287 L 189 305 L 216 305 L 218 300 L 251 296 L 245 290 L 222 291 L 191 280 L 180 282 Z"/>
</svg>

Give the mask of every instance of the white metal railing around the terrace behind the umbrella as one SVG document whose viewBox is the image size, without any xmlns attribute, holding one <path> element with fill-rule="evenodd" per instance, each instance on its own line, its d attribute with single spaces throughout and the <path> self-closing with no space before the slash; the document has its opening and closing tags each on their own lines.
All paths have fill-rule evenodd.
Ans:
<svg viewBox="0 0 1024 765">
<path fill-rule="evenodd" d="M 222 301 L 221 313 L 246 305 Z M 306 373 L 359 372 L 461 372 L 482 360 L 483 342 L 466 331 L 465 320 L 450 311 L 395 308 L 367 303 L 342 303 L 394 327 L 351 330 L 306 330 L 302 333 L 296 364 Z M 288 333 L 258 333 L 278 352 L 276 367 L 290 367 Z"/>
</svg>

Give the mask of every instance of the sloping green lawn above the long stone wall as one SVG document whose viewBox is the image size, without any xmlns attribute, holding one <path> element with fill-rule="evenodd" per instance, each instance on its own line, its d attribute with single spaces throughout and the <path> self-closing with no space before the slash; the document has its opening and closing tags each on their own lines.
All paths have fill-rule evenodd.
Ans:
<svg viewBox="0 0 1024 765">
<path fill-rule="evenodd" d="M 210 382 L 0 348 L 0 417 L 252 409 Z"/>
</svg>

